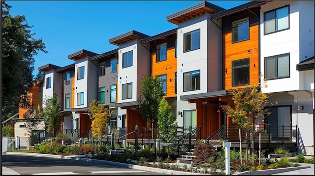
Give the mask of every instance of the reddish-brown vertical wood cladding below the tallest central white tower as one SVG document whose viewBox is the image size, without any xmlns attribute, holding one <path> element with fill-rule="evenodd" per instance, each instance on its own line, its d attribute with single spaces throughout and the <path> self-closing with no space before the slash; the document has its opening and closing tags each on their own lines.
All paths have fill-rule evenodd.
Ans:
<svg viewBox="0 0 315 176">
<path fill-rule="evenodd" d="M 217 112 L 219 105 L 216 103 L 196 103 L 197 118 L 196 126 L 201 127 L 201 139 L 208 138 L 220 127 L 220 113 Z"/>
</svg>

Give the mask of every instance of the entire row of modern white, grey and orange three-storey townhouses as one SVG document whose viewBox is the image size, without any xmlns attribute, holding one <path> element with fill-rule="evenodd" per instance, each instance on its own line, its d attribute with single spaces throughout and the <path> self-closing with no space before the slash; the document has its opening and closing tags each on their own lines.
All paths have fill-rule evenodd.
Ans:
<svg viewBox="0 0 315 176">
<path fill-rule="evenodd" d="M 45 71 L 42 101 L 57 93 L 63 102 L 60 128 L 83 135 L 91 129 L 87 111 L 96 99 L 110 109 L 109 127 L 128 134 L 135 125 L 148 125 L 138 111 L 143 76 L 159 76 L 178 125 L 189 127 L 185 134 L 199 129 L 200 139 L 209 139 L 224 132 L 225 140 L 236 142 L 238 129 L 221 109 L 233 105 L 228 90 L 267 79 L 261 91 L 277 104 L 256 123 L 270 134 L 265 147 L 285 144 L 310 155 L 315 44 L 310 14 L 314 1 L 259 0 L 227 10 L 203 1 L 167 16 L 175 29 L 154 36 L 130 31 L 109 39 L 118 49 L 80 50 L 68 56 L 74 64 L 38 68 Z"/>
</svg>

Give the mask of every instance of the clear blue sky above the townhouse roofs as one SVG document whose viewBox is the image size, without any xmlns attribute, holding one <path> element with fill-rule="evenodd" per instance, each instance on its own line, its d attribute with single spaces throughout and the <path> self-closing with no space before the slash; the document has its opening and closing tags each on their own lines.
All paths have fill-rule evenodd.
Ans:
<svg viewBox="0 0 315 176">
<path fill-rule="evenodd" d="M 98 54 L 118 48 L 108 40 L 135 30 L 146 35 L 157 35 L 176 28 L 166 16 L 186 9 L 202 0 L 177 1 L 9 1 L 10 13 L 25 15 L 33 25 L 34 38 L 42 38 L 48 53 L 34 56 L 35 76 L 38 67 L 54 64 L 64 67 L 73 64 L 68 55 L 86 49 Z M 248 0 L 210 0 L 229 9 Z"/>
</svg>

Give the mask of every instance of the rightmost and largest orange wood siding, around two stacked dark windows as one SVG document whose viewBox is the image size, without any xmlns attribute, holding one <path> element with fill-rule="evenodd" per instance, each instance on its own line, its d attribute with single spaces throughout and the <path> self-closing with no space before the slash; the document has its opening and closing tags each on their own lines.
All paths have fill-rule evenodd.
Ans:
<svg viewBox="0 0 315 176">
<path fill-rule="evenodd" d="M 258 84 L 259 62 L 258 62 L 258 24 L 250 26 L 250 39 L 232 43 L 231 31 L 223 33 L 222 41 L 222 86 L 223 89 L 240 88 L 232 87 L 232 61 L 250 58 L 250 85 Z M 243 86 L 244 87 L 244 86 Z M 245 86 L 247 87 L 247 86 Z"/>
</svg>

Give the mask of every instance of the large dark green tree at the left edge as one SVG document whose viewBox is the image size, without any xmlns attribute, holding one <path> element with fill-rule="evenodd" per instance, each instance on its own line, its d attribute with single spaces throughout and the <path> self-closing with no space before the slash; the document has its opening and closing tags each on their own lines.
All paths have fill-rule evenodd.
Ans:
<svg viewBox="0 0 315 176">
<path fill-rule="evenodd" d="M 35 39 L 24 15 L 12 16 L 11 6 L 1 0 L 2 15 L 2 106 L 3 117 L 15 114 L 19 106 L 30 107 L 25 85 L 33 79 L 34 55 L 47 53 L 42 39 Z M 21 96 L 22 95 L 22 96 Z"/>
</svg>

